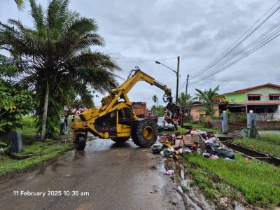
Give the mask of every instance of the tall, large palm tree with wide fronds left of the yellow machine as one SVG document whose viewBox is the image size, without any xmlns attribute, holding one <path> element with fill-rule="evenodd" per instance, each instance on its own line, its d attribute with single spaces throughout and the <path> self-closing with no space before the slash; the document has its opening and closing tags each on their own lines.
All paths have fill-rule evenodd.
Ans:
<svg viewBox="0 0 280 210">
<path fill-rule="evenodd" d="M 37 126 L 44 139 L 58 132 L 70 94 L 84 97 L 90 96 L 90 88 L 111 90 L 120 68 L 109 55 L 91 50 L 104 45 L 97 22 L 70 11 L 69 0 L 51 0 L 45 10 L 36 0 L 29 4 L 34 26 L 13 19 L 0 22 L 0 49 L 13 56 L 19 83 L 34 92 Z"/>
</svg>

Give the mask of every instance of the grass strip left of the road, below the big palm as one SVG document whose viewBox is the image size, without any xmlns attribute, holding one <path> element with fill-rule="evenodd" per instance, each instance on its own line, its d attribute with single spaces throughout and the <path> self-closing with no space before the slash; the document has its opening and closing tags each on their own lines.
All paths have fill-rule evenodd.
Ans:
<svg viewBox="0 0 280 210">
<path fill-rule="evenodd" d="M 14 153 L 19 157 L 33 154 L 31 158 L 23 160 L 13 160 L 6 155 L 0 155 L 0 176 L 11 172 L 20 172 L 23 169 L 38 167 L 43 162 L 56 158 L 62 153 L 73 148 L 73 144 L 59 144 L 57 141 L 34 142 L 32 145 L 24 145 L 22 153 Z"/>
</svg>

